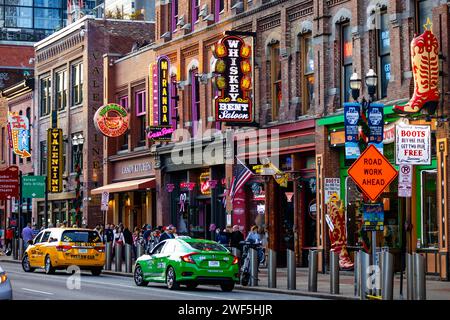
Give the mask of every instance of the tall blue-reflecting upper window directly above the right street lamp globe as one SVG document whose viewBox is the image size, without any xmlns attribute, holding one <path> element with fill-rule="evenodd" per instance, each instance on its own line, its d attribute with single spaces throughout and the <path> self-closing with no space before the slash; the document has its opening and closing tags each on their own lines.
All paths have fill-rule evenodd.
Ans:
<svg viewBox="0 0 450 320">
<path fill-rule="evenodd" d="M 391 42 L 389 34 L 389 18 L 386 11 L 380 15 L 380 29 L 378 30 L 378 74 L 381 77 L 380 98 L 387 97 L 387 87 L 391 79 Z"/>
</svg>

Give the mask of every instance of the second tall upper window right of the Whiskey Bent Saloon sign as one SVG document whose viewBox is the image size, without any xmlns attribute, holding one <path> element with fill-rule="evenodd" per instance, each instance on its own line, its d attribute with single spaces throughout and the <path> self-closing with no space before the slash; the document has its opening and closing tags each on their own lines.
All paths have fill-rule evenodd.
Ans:
<svg viewBox="0 0 450 320">
<path fill-rule="evenodd" d="M 300 50 L 302 63 L 302 114 L 306 114 L 314 104 L 314 49 L 311 33 L 301 36 Z"/>
</svg>

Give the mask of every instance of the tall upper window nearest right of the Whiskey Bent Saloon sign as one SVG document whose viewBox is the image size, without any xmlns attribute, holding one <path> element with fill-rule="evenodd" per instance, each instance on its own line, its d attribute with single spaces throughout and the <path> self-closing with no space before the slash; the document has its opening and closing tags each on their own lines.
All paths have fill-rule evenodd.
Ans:
<svg viewBox="0 0 450 320">
<path fill-rule="evenodd" d="M 280 113 L 282 91 L 281 91 L 281 61 L 280 43 L 277 42 L 270 47 L 270 79 L 272 93 L 272 120 L 278 120 Z"/>
</svg>

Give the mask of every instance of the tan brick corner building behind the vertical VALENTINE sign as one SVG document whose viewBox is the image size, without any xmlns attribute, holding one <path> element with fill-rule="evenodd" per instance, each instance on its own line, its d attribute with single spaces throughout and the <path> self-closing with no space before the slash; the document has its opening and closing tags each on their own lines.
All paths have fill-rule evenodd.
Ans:
<svg viewBox="0 0 450 320">
<path fill-rule="evenodd" d="M 93 123 L 103 104 L 103 55 L 131 52 L 136 42 L 152 41 L 153 30 L 153 23 L 85 17 L 35 45 L 39 98 L 34 104 L 37 126 L 33 149 L 40 153 L 34 158 L 36 174 L 46 174 L 47 128 L 62 128 L 64 141 L 64 189 L 49 194 L 49 223 L 66 220 L 93 227 L 103 222 L 100 196 L 90 195 L 91 189 L 103 183 L 103 137 Z M 80 185 L 77 163 L 81 164 Z M 82 203 L 75 215 L 77 186 Z M 40 225 L 44 208 L 43 201 L 34 203 Z"/>
</svg>

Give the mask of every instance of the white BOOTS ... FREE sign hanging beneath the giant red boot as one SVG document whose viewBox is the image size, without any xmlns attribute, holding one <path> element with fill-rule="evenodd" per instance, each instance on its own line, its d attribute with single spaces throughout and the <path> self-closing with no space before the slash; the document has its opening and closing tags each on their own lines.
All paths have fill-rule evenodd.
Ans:
<svg viewBox="0 0 450 320">
<path fill-rule="evenodd" d="M 431 164 L 430 126 L 397 125 L 395 151 L 397 165 Z"/>
</svg>

